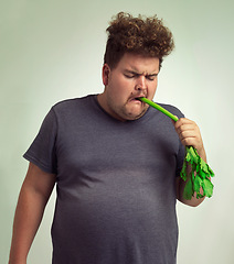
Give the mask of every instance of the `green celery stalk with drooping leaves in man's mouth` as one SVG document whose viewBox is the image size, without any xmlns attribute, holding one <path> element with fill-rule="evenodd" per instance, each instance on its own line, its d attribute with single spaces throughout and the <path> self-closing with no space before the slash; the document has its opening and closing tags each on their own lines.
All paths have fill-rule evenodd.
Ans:
<svg viewBox="0 0 234 264">
<path fill-rule="evenodd" d="M 170 113 L 164 108 L 160 107 L 156 102 L 150 101 L 147 98 L 138 98 L 139 100 L 148 103 L 149 106 L 158 109 L 173 121 L 178 121 L 178 118 Z M 210 180 L 210 177 L 214 176 L 213 170 L 210 166 L 199 156 L 196 150 L 193 146 L 185 147 L 185 157 L 183 161 L 183 166 L 180 172 L 181 178 L 185 182 L 185 187 L 183 190 L 183 197 L 187 200 L 191 200 L 194 194 L 196 194 L 196 198 L 202 198 L 204 196 L 211 197 L 213 194 L 213 184 Z M 191 168 L 189 168 L 189 166 Z M 191 172 L 190 172 L 191 170 Z M 188 172 L 190 174 L 188 175 Z M 188 178 L 189 177 L 189 178 Z"/>
</svg>

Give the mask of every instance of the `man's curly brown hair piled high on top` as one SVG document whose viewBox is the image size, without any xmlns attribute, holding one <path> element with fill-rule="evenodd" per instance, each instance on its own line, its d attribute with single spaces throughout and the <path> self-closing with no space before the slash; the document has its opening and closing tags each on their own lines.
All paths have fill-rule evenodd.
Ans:
<svg viewBox="0 0 234 264">
<path fill-rule="evenodd" d="M 163 57 L 174 47 L 172 33 L 156 15 L 143 19 L 140 14 L 134 18 L 119 12 L 106 31 L 108 38 L 104 63 L 110 68 L 117 66 L 125 53 L 158 57 L 161 67 Z"/>
</svg>

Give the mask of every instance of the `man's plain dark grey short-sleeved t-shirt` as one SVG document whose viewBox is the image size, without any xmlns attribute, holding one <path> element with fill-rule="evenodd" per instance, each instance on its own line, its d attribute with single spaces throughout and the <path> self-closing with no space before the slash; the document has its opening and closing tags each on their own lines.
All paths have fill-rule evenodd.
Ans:
<svg viewBox="0 0 234 264">
<path fill-rule="evenodd" d="M 24 157 L 56 174 L 53 264 L 176 263 L 184 147 L 168 117 L 149 108 L 120 122 L 94 95 L 65 100 Z"/>
</svg>

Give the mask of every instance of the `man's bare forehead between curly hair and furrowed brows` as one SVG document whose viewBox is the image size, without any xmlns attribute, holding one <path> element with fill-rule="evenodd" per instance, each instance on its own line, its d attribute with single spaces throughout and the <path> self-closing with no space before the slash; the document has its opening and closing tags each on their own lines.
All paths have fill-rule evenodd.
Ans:
<svg viewBox="0 0 234 264">
<path fill-rule="evenodd" d="M 119 61 L 117 68 L 137 73 L 158 73 L 159 58 L 126 53 Z"/>
</svg>

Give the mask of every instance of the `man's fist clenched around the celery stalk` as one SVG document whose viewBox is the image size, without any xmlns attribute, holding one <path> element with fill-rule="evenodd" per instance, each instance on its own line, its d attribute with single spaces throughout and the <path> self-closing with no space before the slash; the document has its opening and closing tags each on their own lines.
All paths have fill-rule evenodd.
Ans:
<svg viewBox="0 0 234 264">
<path fill-rule="evenodd" d="M 193 146 L 198 154 L 206 162 L 205 150 L 198 124 L 189 119 L 181 118 L 174 123 L 174 129 L 184 146 Z"/>
</svg>

